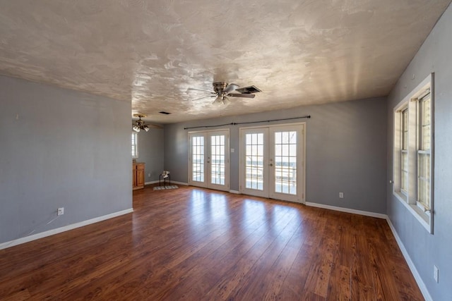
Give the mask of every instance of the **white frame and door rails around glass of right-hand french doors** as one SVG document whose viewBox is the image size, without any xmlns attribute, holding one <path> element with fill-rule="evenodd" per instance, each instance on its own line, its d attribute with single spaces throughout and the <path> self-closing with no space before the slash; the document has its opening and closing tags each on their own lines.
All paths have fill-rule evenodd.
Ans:
<svg viewBox="0 0 452 301">
<path fill-rule="evenodd" d="M 299 139 L 297 139 L 297 195 L 292 197 L 285 194 L 280 194 L 277 192 L 272 192 L 270 188 L 274 188 L 274 175 L 270 175 L 270 170 L 268 170 L 268 166 L 272 164 L 270 162 L 270 159 L 274 151 L 270 151 L 270 149 L 274 148 L 274 139 L 270 137 L 272 133 L 278 128 L 284 129 L 284 128 L 294 128 L 294 127 L 300 127 L 301 125 L 301 133 L 298 134 Z M 244 185 L 244 179 L 245 179 L 245 162 L 244 162 L 244 156 L 245 156 L 245 145 L 244 145 L 244 135 L 246 133 L 250 133 L 252 130 L 263 130 L 267 129 L 268 132 L 268 138 L 267 138 L 267 145 L 266 148 L 266 155 L 264 156 L 264 174 L 266 174 L 266 179 L 264 179 L 264 189 L 262 191 L 256 191 L 256 190 L 248 190 L 245 188 Z M 272 146 L 270 146 L 270 143 L 273 143 Z M 302 143 L 302 145 L 299 145 Z M 305 203 L 306 202 L 306 123 L 283 123 L 278 125 L 261 125 L 261 126 L 253 126 L 253 127 L 246 127 L 246 128 L 239 128 L 239 192 L 243 194 L 248 195 L 256 195 L 261 197 L 270 197 L 274 199 L 283 199 L 290 202 L 299 202 L 299 203 Z M 267 168 L 267 169 L 265 169 Z M 273 169 L 272 169 L 273 171 Z M 299 180 L 301 178 L 301 180 Z M 270 183 L 270 181 L 273 180 L 273 183 Z M 272 185 L 273 184 L 273 185 Z M 274 191 L 274 190 L 273 190 Z"/>
</svg>

